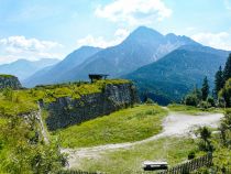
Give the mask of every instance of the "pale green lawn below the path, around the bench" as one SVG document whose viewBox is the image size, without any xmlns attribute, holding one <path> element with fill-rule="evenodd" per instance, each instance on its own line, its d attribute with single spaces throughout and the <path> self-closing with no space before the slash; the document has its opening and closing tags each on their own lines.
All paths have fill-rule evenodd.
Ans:
<svg viewBox="0 0 231 174">
<path fill-rule="evenodd" d="M 174 166 L 186 161 L 190 151 L 197 151 L 195 140 L 164 138 L 130 149 L 103 152 L 97 159 L 81 159 L 76 164 L 76 168 L 110 174 L 142 173 L 142 163 L 144 161 L 167 161 L 170 166 Z"/>
</svg>

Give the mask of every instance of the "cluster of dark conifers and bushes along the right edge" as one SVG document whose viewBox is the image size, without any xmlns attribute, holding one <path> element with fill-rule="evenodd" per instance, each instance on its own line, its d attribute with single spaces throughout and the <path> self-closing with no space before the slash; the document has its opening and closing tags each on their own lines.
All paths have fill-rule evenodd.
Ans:
<svg viewBox="0 0 231 174">
<path fill-rule="evenodd" d="M 231 54 L 229 54 L 224 67 L 219 67 L 215 75 L 215 88 L 210 93 L 207 76 L 204 78 L 201 88 L 197 86 L 190 91 L 183 102 L 188 106 L 200 108 L 231 107 Z"/>
</svg>

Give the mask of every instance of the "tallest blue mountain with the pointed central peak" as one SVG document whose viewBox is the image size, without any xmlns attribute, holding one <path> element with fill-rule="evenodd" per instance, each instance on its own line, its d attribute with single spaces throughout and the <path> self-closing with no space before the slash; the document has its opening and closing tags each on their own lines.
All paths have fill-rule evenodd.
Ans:
<svg viewBox="0 0 231 174">
<path fill-rule="evenodd" d="M 108 47 L 67 72 L 66 80 L 86 79 L 90 73 L 118 77 L 153 63 L 182 45 L 199 45 L 186 36 L 162 35 L 155 30 L 140 26 L 121 44 Z"/>
</svg>

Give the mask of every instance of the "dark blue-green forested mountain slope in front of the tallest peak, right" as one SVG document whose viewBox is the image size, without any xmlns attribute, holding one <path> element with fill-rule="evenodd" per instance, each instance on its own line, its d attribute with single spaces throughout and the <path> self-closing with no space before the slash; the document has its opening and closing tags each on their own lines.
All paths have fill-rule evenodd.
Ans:
<svg viewBox="0 0 231 174">
<path fill-rule="evenodd" d="M 208 76 L 213 76 L 224 65 L 229 52 L 207 46 L 182 46 L 162 59 L 125 75 L 139 86 L 142 93 L 160 104 L 179 101 L 184 95 Z"/>
</svg>

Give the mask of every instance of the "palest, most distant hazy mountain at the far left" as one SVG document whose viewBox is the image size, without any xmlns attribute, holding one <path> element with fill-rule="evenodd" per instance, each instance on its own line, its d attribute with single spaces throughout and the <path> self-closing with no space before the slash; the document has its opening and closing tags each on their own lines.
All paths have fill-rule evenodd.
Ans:
<svg viewBox="0 0 231 174">
<path fill-rule="evenodd" d="M 42 58 L 40 61 L 18 59 L 10 64 L 0 65 L 0 74 L 11 74 L 23 80 L 36 70 L 58 63 L 55 58 Z"/>
</svg>

